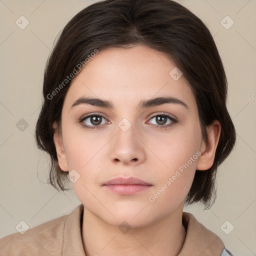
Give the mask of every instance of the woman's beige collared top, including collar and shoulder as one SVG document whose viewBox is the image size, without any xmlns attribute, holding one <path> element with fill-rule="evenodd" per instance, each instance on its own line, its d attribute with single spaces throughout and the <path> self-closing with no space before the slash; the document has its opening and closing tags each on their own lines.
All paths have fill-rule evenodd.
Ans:
<svg viewBox="0 0 256 256">
<path fill-rule="evenodd" d="M 86 256 L 81 227 L 83 204 L 71 213 L 28 229 L 25 233 L 0 238 L 0 255 Z M 186 237 L 178 256 L 220 256 L 224 244 L 188 212 L 182 213 Z M 192 253 L 192 254 L 191 254 Z"/>
</svg>

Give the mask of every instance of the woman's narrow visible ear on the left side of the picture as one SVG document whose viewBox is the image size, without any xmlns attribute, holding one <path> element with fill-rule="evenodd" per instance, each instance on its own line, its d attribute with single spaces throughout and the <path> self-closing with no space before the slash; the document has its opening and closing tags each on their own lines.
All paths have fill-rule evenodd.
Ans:
<svg viewBox="0 0 256 256">
<path fill-rule="evenodd" d="M 61 136 L 61 131 L 57 127 L 56 122 L 53 123 L 54 135 L 53 141 L 56 147 L 57 157 L 58 157 L 58 165 L 63 171 L 68 171 L 66 154 L 63 147 L 63 140 Z"/>
</svg>

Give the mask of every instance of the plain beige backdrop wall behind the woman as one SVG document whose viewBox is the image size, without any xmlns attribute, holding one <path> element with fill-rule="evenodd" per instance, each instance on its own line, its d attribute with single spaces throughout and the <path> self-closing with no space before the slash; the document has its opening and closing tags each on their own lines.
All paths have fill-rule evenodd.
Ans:
<svg viewBox="0 0 256 256">
<path fill-rule="evenodd" d="M 54 38 L 92 2 L 0 0 L 0 237 L 16 232 L 20 220 L 31 228 L 80 204 L 72 190 L 60 194 L 45 183 L 49 161 L 37 150 L 33 133 L 44 65 Z M 202 210 L 201 205 L 184 210 L 219 235 L 235 255 L 256 255 L 256 0 L 178 2 L 201 18 L 214 35 L 237 132 L 235 148 L 218 170 L 215 204 L 209 210 Z M 23 30 L 15 24 L 21 15 L 29 21 Z M 234 21 L 229 29 L 220 23 L 226 15 Z M 21 118 L 28 123 L 23 131 L 16 127 Z M 226 220 L 234 226 L 229 234 L 220 228 Z"/>
</svg>

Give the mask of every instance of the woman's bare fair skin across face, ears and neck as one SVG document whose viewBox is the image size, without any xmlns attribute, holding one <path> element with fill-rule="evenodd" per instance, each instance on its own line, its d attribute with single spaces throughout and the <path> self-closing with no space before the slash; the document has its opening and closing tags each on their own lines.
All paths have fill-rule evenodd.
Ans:
<svg viewBox="0 0 256 256">
<path fill-rule="evenodd" d="M 110 48 L 87 63 L 66 94 L 62 131 L 56 129 L 54 143 L 61 169 L 75 169 L 80 175 L 71 184 L 84 205 L 82 239 L 87 256 L 117 251 L 124 256 L 174 256 L 182 248 L 184 200 L 195 169 L 203 171 L 212 165 L 221 127 L 214 120 L 208 127 L 208 142 L 202 140 L 195 98 L 183 76 L 175 81 L 169 75 L 174 67 L 165 54 L 147 46 Z M 109 100 L 114 107 L 80 104 L 71 108 L 80 96 Z M 157 96 L 176 97 L 188 109 L 164 103 L 139 110 L 141 100 Z M 103 115 L 100 125 L 87 118 L 83 124 L 96 128 L 84 128 L 79 119 L 93 113 Z M 153 116 L 162 113 L 177 122 L 168 118 L 166 124 L 157 122 Z M 126 131 L 118 126 L 123 118 L 131 124 Z M 150 202 L 149 196 L 197 151 L 201 155 Z M 151 186 L 131 195 L 118 195 L 102 186 L 117 176 L 137 177 Z M 118 228 L 123 221 L 130 227 L 126 233 Z"/>
</svg>

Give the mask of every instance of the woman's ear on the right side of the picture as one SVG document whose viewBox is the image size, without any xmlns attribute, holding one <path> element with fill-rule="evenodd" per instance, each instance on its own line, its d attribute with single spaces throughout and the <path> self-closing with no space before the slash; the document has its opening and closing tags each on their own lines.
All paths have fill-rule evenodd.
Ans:
<svg viewBox="0 0 256 256">
<path fill-rule="evenodd" d="M 207 127 L 207 141 L 202 141 L 201 143 L 201 155 L 198 157 L 196 164 L 197 170 L 207 170 L 212 166 L 220 131 L 221 125 L 218 120 L 214 120 L 210 126 Z"/>
</svg>

